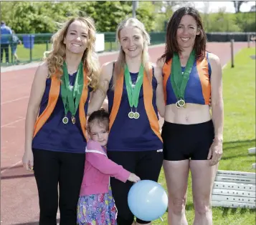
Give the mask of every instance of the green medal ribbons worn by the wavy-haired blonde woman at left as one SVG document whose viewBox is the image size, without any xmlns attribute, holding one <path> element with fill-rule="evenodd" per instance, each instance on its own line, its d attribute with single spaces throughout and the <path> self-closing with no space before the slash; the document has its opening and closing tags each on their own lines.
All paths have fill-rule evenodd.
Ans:
<svg viewBox="0 0 256 225">
<path fill-rule="evenodd" d="M 78 66 L 73 89 L 71 89 L 71 86 L 70 86 L 70 79 L 69 79 L 69 74 L 67 72 L 66 62 L 64 62 L 62 69 L 63 69 L 63 76 L 61 77 L 62 79 L 61 94 L 62 94 L 62 101 L 65 109 L 65 116 L 67 116 L 68 111 L 70 111 L 72 116 L 75 116 L 75 113 L 78 109 L 78 105 L 82 95 L 82 88 L 83 88 L 84 76 L 82 72 L 82 62 L 80 62 Z"/>
</svg>

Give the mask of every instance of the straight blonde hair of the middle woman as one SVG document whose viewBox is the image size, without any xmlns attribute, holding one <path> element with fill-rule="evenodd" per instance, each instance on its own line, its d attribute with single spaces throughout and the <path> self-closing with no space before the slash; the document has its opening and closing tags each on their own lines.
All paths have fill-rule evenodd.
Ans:
<svg viewBox="0 0 256 225">
<path fill-rule="evenodd" d="M 120 22 L 118 25 L 118 29 L 116 31 L 116 41 L 119 45 L 119 54 L 118 54 L 118 60 L 115 62 L 115 73 L 113 74 L 113 86 L 112 89 L 115 88 L 115 83 L 118 79 L 118 76 L 120 75 L 120 72 L 125 67 L 125 52 L 122 49 L 122 46 L 120 45 L 120 31 L 125 28 L 125 26 L 134 26 L 141 30 L 142 36 L 143 36 L 143 51 L 142 51 L 142 64 L 144 66 L 144 69 L 146 70 L 147 76 L 149 76 L 149 70 L 151 68 L 151 63 L 149 61 L 149 55 L 148 55 L 148 45 L 150 44 L 150 36 L 148 32 L 145 29 L 145 26 L 141 21 L 139 21 L 136 18 L 128 18 Z"/>
</svg>

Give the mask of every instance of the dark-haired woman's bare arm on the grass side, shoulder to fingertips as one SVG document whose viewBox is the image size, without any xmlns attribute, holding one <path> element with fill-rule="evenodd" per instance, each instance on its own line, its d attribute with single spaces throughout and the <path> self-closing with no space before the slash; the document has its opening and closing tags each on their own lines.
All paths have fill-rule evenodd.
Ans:
<svg viewBox="0 0 256 225">
<path fill-rule="evenodd" d="M 224 106 L 222 97 L 222 66 L 218 56 L 209 54 L 209 62 L 212 68 L 211 74 L 211 105 L 212 121 L 214 124 L 214 142 L 211 146 L 208 159 L 212 156 L 211 165 L 219 162 L 222 156 Z"/>
</svg>

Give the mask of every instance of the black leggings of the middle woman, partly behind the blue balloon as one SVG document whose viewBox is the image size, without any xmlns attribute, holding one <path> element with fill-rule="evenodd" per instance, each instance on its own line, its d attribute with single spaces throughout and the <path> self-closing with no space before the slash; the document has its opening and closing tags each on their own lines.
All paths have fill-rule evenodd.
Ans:
<svg viewBox="0 0 256 225">
<path fill-rule="evenodd" d="M 163 151 L 162 149 L 153 151 L 108 151 L 108 158 L 136 174 L 141 180 L 157 182 L 163 164 Z M 131 181 L 123 183 L 111 177 L 110 184 L 115 206 L 118 209 L 118 225 L 133 224 L 134 216 L 128 207 L 128 192 L 133 183 Z M 150 221 L 137 219 L 137 222 L 148 224 Z"/>
</svg>

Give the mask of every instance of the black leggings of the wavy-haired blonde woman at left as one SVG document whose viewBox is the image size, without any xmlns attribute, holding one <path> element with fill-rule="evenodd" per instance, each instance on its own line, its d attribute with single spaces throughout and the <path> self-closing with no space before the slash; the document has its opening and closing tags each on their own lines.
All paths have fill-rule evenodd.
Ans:
<svg viewBox="0 0 256 225">
<path fill-rule="evenodd" d="M 76 225 L 85 154 L 39 149 L 33 149 L 33 154 L 34 176 L 39 194 L 39 225 L 57 224 L 58 201 L 60 225 Z"/>
</svg>

